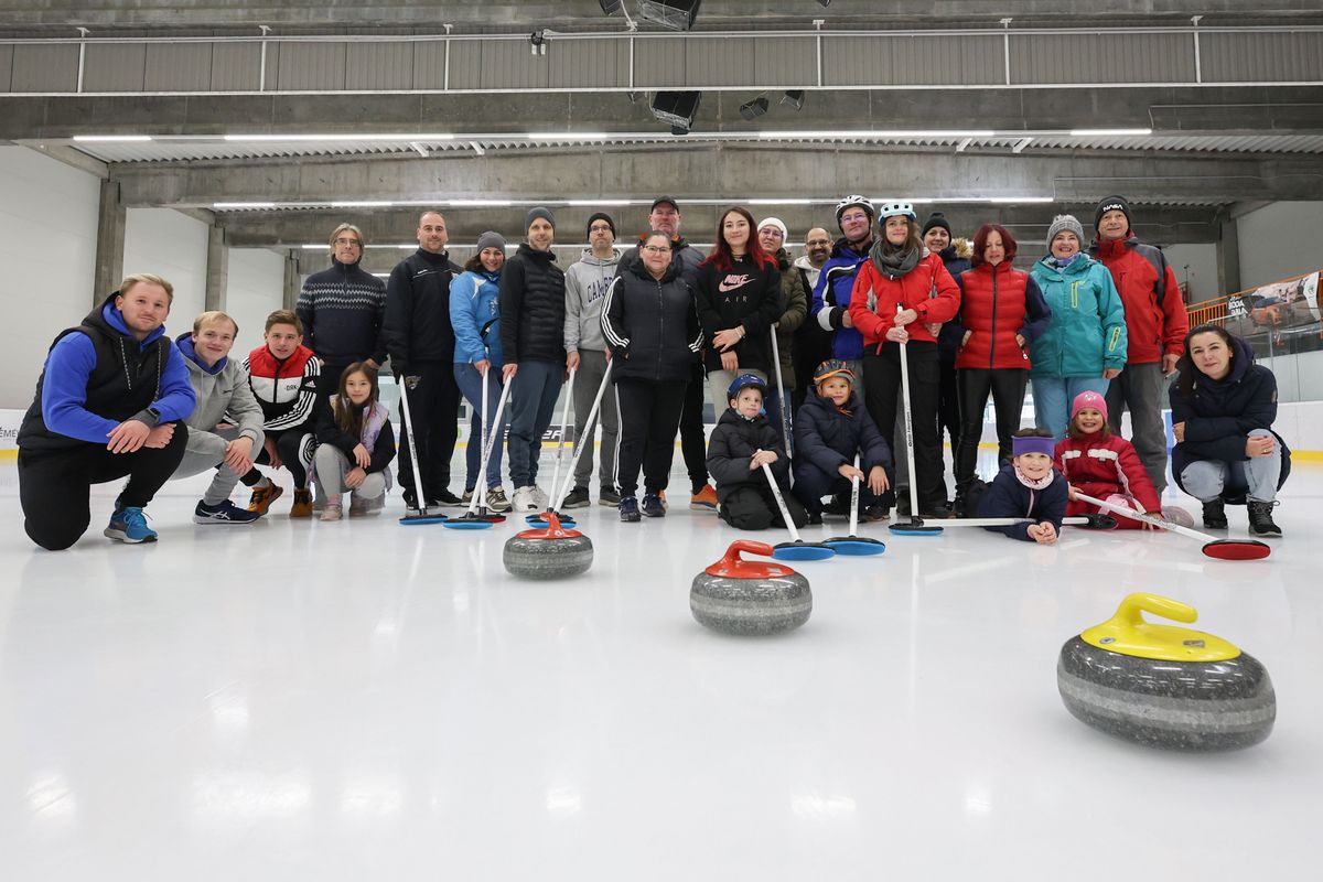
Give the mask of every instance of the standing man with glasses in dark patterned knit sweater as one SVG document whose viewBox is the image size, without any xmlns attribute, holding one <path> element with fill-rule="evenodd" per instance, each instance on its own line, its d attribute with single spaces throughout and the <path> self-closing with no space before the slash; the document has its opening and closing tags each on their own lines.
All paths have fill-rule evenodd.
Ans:
<svg viewBox="0 0 1323 882">
<path fill-rule="evenodd" d="M 303 323 L 303 345 L 321 362 L 318 395 L 329 399 L 340 374 L 356 361 L 380 368 L 386 360 L 381 321 L 386 286 L 359 266 L 363 233 L 341 223 L 331 233 L 331 268 L 314 272 L 299 291 L 295 313 Z"/>
</svg>

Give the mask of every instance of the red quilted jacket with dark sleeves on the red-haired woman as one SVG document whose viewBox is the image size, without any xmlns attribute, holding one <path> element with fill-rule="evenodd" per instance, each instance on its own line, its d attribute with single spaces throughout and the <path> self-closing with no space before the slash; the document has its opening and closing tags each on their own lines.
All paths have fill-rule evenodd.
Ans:
<svg viewBox="0 0 1323 882">
<path fill-rule="evenodd" d="M 1028 370 L 1029 344 L 1048 328 L 1052 309 L 1039 283 L 1009 262 L 980 263 L 955 280 L 960 286 L 960 315 L 954 324 L 970 332 L 955 356 L 957 368 Z M 1015 336 L 1024 337 L 1021 346 Z"/>
</svg>

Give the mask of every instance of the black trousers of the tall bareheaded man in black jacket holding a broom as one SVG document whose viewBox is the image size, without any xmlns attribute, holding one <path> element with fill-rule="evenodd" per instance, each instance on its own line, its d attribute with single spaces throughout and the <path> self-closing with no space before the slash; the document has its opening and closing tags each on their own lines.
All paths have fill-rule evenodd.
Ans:
<svg viewBox="0 0 1323 882">
<path fill-rule="evenodd" d="M 415 389 L 405 389 L 404 377 L 396 374 L 400 393 L 409 395 L 409 417 L 414 430 L 414 447 L 418 451 L 425 502 L 437 500 L 442 491 L 450 489 L 450 459 L 455 454 L 459 439 L 459 385 L 455 383 L 455 366 L 450 361 L 417 361 L 409 365 L 409 376 L 419 377 Z M 400 456 L 396 459 L 396 475 L 406 492 L 414 489 L 414 464 L 409 455 L 409 427 L 404 419 L 404 403 L 400 405 Z"/>
</svg>

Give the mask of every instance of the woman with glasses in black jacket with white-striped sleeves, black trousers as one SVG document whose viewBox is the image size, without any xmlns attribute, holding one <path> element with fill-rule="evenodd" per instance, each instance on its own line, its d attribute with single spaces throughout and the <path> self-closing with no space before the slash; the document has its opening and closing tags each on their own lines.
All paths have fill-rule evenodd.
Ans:
<svg viewBox="0 0 1323 882">
<path fill-rule="evenodd" d="M 689 369 L 703 345 L 693 291 L 680 278 L 683 270 L 671 239 L 654 230 L 636 253 L 622 259 L 602 307 L 620 426 L 615 480 L 620 520 L 627 522 L 639 520 L 640 464 L 643 514 L 665 514 L 662 491 L 671 476 Z"/>
</svg>

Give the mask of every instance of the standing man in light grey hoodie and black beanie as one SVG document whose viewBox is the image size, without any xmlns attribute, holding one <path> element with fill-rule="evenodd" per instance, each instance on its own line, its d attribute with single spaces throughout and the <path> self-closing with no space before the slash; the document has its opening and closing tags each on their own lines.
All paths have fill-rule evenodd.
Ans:
<svg viewBox="0 0 1323 882">
<path fill-rule="evenodd" d="M 615 250 L 615 221 L 598 212 L 587 220 L 587 241 L 591 247 L 565 271 L 565 352 L 566 365 L 578 368 L 574 377 L 574 438 L 586 428 L 587 411 L 593 407 L 606 364 L 611 358 L 602 336 L 602 304 L 606 290 L 615 278 L 620 254 Z M 602 450 L 598 458 L 598 502 L 615 508 L 620 502 L 615 492 L 615 450 L 619 419 L 615 407 L 615 385 L 609 383 L 598 410 L 602 426 Z M 593 476 L 593 446 L 582 444 L 574 463 L 574 489 L 565 497 L 562 508 L 581 508 L 590 502 L 587 481 Z"/>
</svg>

